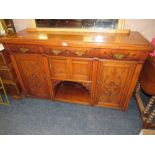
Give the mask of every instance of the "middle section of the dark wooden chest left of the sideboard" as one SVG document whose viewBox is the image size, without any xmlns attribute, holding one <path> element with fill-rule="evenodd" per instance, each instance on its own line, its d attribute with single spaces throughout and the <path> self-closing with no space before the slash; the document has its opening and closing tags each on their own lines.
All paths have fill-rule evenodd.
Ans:
<svg viewBox="0 0 155 155">
<path fill-rule="evenodd" d="M 14 80 L 16 74 L 11 64 L 8 67 L 0 67 L 0 76 L 3 80 Z"/>
</svg>

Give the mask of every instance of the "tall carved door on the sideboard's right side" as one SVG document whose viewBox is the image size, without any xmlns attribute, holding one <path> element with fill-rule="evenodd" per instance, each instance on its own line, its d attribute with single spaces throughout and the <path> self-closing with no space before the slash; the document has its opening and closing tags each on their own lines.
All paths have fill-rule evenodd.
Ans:
<svg viewBox="0 0 155 155">
<path fill-rule="evenodd" d="M 135 63 L 100 61 L 97 76 L 97 105 L 121 109 L 128 94 Z"/>
</svg>

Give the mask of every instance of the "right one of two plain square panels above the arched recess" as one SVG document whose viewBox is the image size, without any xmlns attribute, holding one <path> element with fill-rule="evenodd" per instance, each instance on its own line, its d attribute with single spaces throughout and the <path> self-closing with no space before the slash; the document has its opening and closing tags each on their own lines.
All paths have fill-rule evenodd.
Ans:
<svg viewBox="0 0 155 155">
<path fill-rule="evenodd" d="M 70 64 L 70 78 L 72 80 L 91 81 L 91 60 L 73 58 Z"/>
</svg>

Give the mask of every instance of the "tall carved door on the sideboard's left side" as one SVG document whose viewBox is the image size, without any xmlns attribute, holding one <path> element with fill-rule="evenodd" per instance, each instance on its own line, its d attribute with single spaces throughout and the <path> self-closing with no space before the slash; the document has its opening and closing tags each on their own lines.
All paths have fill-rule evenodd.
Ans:
<svg viewBox="0 0 155 155">
<path fill-rule="evenodd" d="M 25 94 L 49 98 L 49 87 L 42 56 L 17 54 L 12 57 L 12 60 Z"/>
</svg>

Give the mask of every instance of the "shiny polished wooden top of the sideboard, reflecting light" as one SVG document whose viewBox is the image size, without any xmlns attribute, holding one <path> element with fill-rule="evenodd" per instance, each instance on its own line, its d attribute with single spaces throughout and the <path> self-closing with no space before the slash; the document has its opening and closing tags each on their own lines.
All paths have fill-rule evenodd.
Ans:
<svg viewBox="0 0 155 155">
<path fill-rule="evenodd" d="M 138 32 L 88 33 L 88 32 L 48 32 L 27 29 L 12 36 L 0 38 L 0 43 L 24 43 L 69 47 L 117 48 L 152 51 L 153 46 Z M 65 44 L 64 44 L 65 43 Z"/>
</svg>

